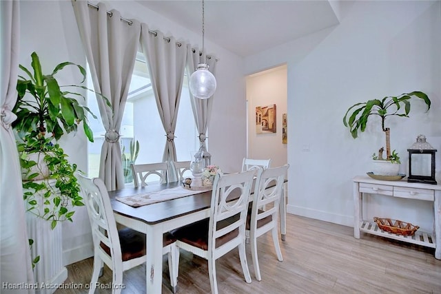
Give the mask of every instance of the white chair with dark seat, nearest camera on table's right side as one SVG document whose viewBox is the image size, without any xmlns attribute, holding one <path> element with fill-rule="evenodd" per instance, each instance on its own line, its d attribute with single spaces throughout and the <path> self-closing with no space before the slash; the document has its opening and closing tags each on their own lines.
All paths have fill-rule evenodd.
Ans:
<svg viewBox="0 0 441 294">
<path fill-rule="evenodd" d="M 245 221 L 253 177 L 254 171 L 223 176 L 217 174 L 209 219 L 172 231 L 178 247 L 208 261 L 209 282 L 214 294 L 218 293 L 216 260 L 236 247 L 245 281 L 252 282 L 245 255 Z M 234 196 L 238 198 L 227 201 Z"/>
</svg>

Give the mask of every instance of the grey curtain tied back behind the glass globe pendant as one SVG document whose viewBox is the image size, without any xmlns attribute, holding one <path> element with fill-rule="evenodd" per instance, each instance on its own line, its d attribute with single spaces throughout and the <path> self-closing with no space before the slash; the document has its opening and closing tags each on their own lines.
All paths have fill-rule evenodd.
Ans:
<svg viewBox="0 0 441 294">
<path fill-rule="evenodd" d="M 192 48 L 191 45 L 187 45 L 187 74 L 190 76 L 198 67 L 198 63 L 201 63 L 202 56 L 199 54 L 197 48 Z M 207 65 L 209 72 L 212 72 L 216 76 L 216 57 L 207 56 Z M 196 122 L 196 127 L 199 133 L 199 143 L 201 147 L 199 150 L 207 151 L 205 146 L 205 139 L 207 136 L 207 128 L 209 123 L 209 118 L 212 114 L 213 98 L 211 96 L 208 99 L 194 98 L 192 92 L 190 92 L 190 101 L 192 101 L 192 109 L 194 115 L 194 121 Z"/>
</svg>

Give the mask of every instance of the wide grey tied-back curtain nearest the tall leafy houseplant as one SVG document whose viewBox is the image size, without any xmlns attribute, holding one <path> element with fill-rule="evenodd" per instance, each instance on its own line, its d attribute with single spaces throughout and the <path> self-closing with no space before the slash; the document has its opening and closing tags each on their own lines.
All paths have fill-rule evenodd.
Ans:
<svg viewBox="0 0 441 294">
<path fill-rule="evenodd" d="M 76 23 L 87 56 L 94 90 L 109 99 L 112 107 L 97 96 L 101 119 L 106 131 L 101 148 L 99 177 L 108 190 L 124 187 L 119 129 L 127 101 L 141 34 L 139 21 L 130 23 L 104 3 L 89 8 L 86 1 L 73 1 Z"/>
</svg>

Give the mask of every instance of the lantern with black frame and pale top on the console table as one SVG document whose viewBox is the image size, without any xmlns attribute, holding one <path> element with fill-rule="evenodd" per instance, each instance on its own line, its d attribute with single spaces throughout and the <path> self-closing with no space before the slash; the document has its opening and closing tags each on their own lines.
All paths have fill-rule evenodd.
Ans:
<svg viewBox="0 0 441 294">
<path fill-rule="evenodd" d="M 426 136 L 419 135 L 409 151 L 409 176 L 407 182 L 423 182 L 436 185 L 435 152 L 436 149 L 426 142 Z"/>
</svg>

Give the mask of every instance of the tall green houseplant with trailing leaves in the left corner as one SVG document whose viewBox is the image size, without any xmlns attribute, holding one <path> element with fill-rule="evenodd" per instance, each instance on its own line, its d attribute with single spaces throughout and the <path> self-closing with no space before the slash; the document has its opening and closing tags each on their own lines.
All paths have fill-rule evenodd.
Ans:
<svg viewBox="0 0 441 294">
<path fill-rule="evenodd" d="M 27 210 L 49 220 L 54 229 L 59 221 L 72 221 L 73 207 L 83 206 L 79 184 L 74 177 L 76 165 L 68 161 L 57 140 L 65 133 L 77 132 L 82 124 L 88 140 L 93 141 L 87 118 L 87 113 L 92 112 L 76 100 L 84 98 L 81 92 L 72 91 L 88 90 L 81 85 L 85 81 L 85 69 L 81 65 L 64 62 L 51 74 L 43 74 L 37 53 L 32 52 L 31 58 L 32 68 L 19 65 L 23 75 L 19 75 L 17 81 L 17 103 L 12 110 L 17 120 L 12 128 L 21 155 Z M 81 74 L 79 85 L 60 85 L 55 77 L 68 65 Z M 68 90 L 64 90 L 66 87 Z M 40 160 L 34 159 L 34 154 Z M 39 178 L 42 169 L 47 169 L 48 174 Z M 41 181 L 34 181 L 36 178 Z M 42 202 L 37 199 L 39 195 L 43 196 Z"/>
</svg>

